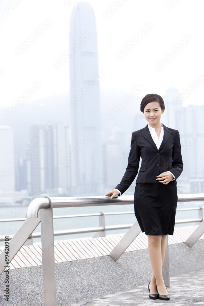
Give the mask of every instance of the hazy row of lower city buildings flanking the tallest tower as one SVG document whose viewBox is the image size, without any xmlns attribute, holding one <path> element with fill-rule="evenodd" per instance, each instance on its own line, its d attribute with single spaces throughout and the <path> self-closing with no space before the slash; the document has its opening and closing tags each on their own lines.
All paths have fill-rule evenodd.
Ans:
<svg viewBox="0 0 204 306">
<path fill-rule="evenodd" d="M 189 105 L 187 107 L 183 107 L 180 100 L 179 102 L 177 101 L 177 104 L 174 102 L 173 99 L 176 97 L 178 100 L 179 92 L 176 88 L 168 89 L 166 91 L 166 94 L 163 97 L 165 100 L 165 110 L 168 113 L 169 109 L 172 109 L 174 112 L 174 117 L 167 116 L 165 118 L 162 115 L 161 122 L 167 127 L 169 125 L 172 126 L 172 119 L 176 118 L 176 121 L 174 121 L 176 126 L 174 126 L 174 128 L 178 129 L 180 133 L 184 171 L 183 176 L 178 178 L 178 191 L 179 193 L 186 193 L 197 188 L 197 192 L 203 192 L 203 185 L 199 182 L 203 181 L 204 173 L 204 161 L 202 159 L 202 151 L 204 149 L 204 132 L 201 129 L 201 118 L 204 106 Z M 122 116 L 124 115 L 125 114 L 123 113 Z M 126 116 L 128 116 L 127 113 Z M 196 118 L 198 118 L 197 121 Z M 114 119 L 116 119 L 116 117 L 114 117 Z M 115 187 L 116 183 L 121 179 L 127 167 L 131 133 L 124 130 L 123 122 L 119 124 L 119 121 L 117 121 L 117 125 L 115 125 L 116 121 L 114 122 L 110 136 L 106 134 L 106 130 L 103 128 L 101 129 L 101 134 L 106 134 L 104 137 L 106 141 L 102 141 L 103 170 L 98 181 L 104 184 L 104 191 L 106 191 L 106 189 L 112 189 Z M 105 122 L 103 121 L 102 127 L 105 127 L 104 123 Z M 131 122 L 129 121 L 129 123 Z M 147 121 L 144 121 L 143 114 L 138 113 L 132 119 L 133 129 L 131 129 L 131 131 L 141 129 L 147 124 Z M 13 134 L 13 129 L 11 129 L 9 126 L 0 126 L 0 131 L 4 131 L 5 128 L 7 131 L 10 131 L 11 135 Z M 15 151 L 14 153 L 14 150 L 12 149 L 12 142 L 14 142 L 13 139 L 12 141 L 9 141 L 11 150 L 7 150 L 7 157 L 1 159 L 3 164 L 6 165 L 5 158 L 8 159 L 9 157 L 10 163 L 13 154 L 13 161 L 15 160 L 15 166 L 13 166 L 13 169 L 15 167 L 15 175 L 13 173 L 13 175 L 10 175 L 9 178 L 10 182 L 15 180 L 16 183 L 13 191 L 14 189 L 16 189 L 16 191 L 21 190 L 24 194 L 25 190 L 27 189 L 28 194 L 31 196 L 37 196 L 43 192 L 51 192 L 51 194 L 55 195 L 69 194 L 69 196 L 103 194 L 103 192 L 100 193 L 99 189 L 97 189 L 98 185 L 101 183 L 98 184 L 96 181 L 91 182 L 90 186 L 92 186 L 92 188 L 89 188 L 88 194 L 87 190 L 83 187 L 78 190 L 78 193 L 76 193 L 76 190 L 71 186 L 71 165 L 75 156 L 71 156 L 70 152 L 71 138 L 69 135 L 71 135 L 71 129 L 69 127 L 69 123 L 52 122 L 50 126 L 49 124 L 43 125 L 39 123 L 31 125 L 29 130 L 30 141 L 29 144 L 25 144 L 25 150 L 18 152 Z M 3 134 L 1 133 L 1 135 Z M 8 142 L 8 139 L 6 141 Z M 128 146 L 125 147 L 124 143 L 127 143 Z M 192 156 L 195 158 L 192 159 Z M 35 162 L 36 160 L 38 160 L 38 166 Z M 59 165 L 61 165 L 61 167 L 59 167 Z M 112 171 L 112 167 L 114 168 L 114 171 Z M 32 168 L 35 170 L 35 173 L 37 173 L 37 176 L 36 174 L 32 174 Z M 37 177 L 37 180 L 35 177 Z M 5 185 L 5 179 L 8 180 L 8 176 L 0 177 L 0 190 L 2 192 L 2 186 Z M 51 182 L 53 179 L 54 181 Z M 23 186 L 23 188 L 20 188 L 20 186 Z M 6 195 L 8 193 L 8 186 L 4 190 Z M 126 194 L 132 194 L 133 191 L 134 182 L 132 183 L 131 187 L 128 188 Z M 2 193 L 2 195 L 4 193 Z"/>
</svg>

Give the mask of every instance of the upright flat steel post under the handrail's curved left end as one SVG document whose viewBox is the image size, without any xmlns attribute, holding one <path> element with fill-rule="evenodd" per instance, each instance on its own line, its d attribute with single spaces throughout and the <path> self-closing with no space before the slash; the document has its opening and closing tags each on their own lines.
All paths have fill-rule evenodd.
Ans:
<svg viewBox="0 0 204 306">
<path fill-rule="evenodd" d="M 50 200 L 50 206 L 40 210 L 44 306 L 56 306 L 52 201 L 44 197 Z"/>
</svg>

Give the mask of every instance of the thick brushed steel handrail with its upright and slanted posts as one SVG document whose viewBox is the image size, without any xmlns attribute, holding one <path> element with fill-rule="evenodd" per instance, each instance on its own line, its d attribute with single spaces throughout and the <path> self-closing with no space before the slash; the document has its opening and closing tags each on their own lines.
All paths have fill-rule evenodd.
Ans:
<svg viewBox="0 0 204 306">
<path fill-rule="evenodd" d="M 204 194 L 181 194 L 178 195 L 178 202 L 185 201 L 203 201 Z M 98 197 L 53 197 L 43 196 L 36 198 L 28 206 L 27 218 L 20 226 L 19 230 L 14 234 L 9 241 L 9 261 L 17 254 L 25 241 L 30 237 L 35 228 L 41 222 L 42 239 L 42 262 L 43 262 L 43 292 L 44 305 L 56 306 L 56 287 L 55 287 L 55 263 L 54 263 L 54 230 L 53 230 L 53 208 L 59 207 L 82 207 L 82 206 L 101 206 L 101 205 L 121 205 L 133 204 L 134 196 L 121 196 L 110 199 L 109 196 Z M 199 218 L 201 219 L 201 218 Z M 199 220 L 201 221 L 201 220 Z M 100 231 L 104 230 L 105 226 L 100 227 Z M 136 221 L 128 232 L 123 236 L 115 248 L 110 252 L 109 256 L 114 260 L 124 253 L 128 246 L 135 240 L 141 232 L 138 222 Z M 204 220 L 191 234 L 185 242 L 191 247 L 204 233 Z M 168 237 L 168 236 L 167 236 Z M 162 273 L 165 280 L 165 285 L 169 286 L 169 260 L 168 260 L 168 239 L 166 239 L 166 252 Z M 5 252 L 0 254 L 0 274 L 5 270 Z"/>
</svg>

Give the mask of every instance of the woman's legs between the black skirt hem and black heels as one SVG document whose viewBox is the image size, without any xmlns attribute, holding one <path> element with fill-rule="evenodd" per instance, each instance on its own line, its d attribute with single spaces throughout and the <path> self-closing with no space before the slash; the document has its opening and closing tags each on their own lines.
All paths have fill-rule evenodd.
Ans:
<svg viewBox="0 0 204 306">
<path fill-rule="evenodd" d="M 164 262 L 165 256 L 165 239 L 166 235 L 148 235 L 148 252 L 152 266 L 150 294 L 157 294 L 156 285 L 159 294 L 168 294 L 162 277 L 162 264 Z"/>
</svg>

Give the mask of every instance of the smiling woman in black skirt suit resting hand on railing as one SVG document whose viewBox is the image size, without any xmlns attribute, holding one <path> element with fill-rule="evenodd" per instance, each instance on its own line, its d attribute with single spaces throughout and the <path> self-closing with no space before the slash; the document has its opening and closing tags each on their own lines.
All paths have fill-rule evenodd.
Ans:
<svg viewBox="0 0 204 306">
<path fill-rule="evenodd" d="M 148 94 L 140 104 L 148 125 L 132 133 L 128 166 L 115 189 L 105 196 L 121 196 L 138 173 L 134 193 L 135 216 L 142 232 L 148 236 L 148 253 L 152 277 L 148 285 L 150 299 L 169 300 L 162 277 L 166 235 L 173 235 L 177 206 L 176 179 L 183 171 L 178 130 L 160 122 L 164 100 Z"/>
</svg>

